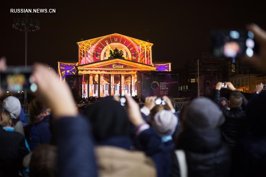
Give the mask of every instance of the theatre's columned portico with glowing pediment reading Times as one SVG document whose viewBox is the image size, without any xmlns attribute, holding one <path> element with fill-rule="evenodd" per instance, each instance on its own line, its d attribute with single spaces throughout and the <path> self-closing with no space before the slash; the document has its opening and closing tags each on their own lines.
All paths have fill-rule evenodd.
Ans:
<svg viewBox="0 0 266 177">
<path fill-rule="evenodd" d="M 83 75 L 83 96 L 135 96 L 136 72 L 156 67 L 126 59 L 107 59 L 76 66 Z"/>
</svg>

